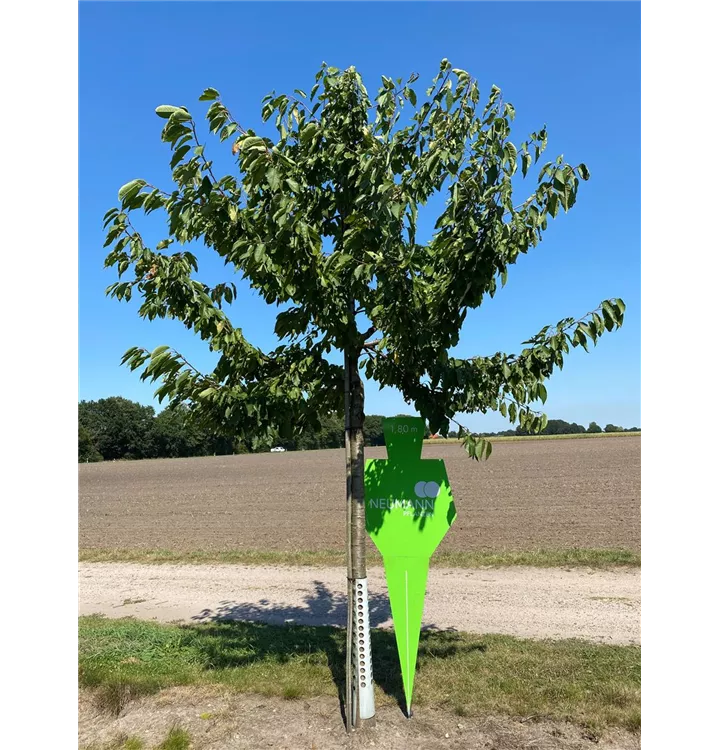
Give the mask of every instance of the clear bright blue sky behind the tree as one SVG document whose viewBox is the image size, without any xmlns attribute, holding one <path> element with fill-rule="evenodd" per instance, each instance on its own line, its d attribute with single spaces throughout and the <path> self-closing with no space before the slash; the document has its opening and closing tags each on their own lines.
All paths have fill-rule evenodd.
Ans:
<svg viewBox="0 0 718 750">
<path fill-rule="evenodd" d="M 136 304 L 104 296 L 115 280 L 114 272 L 103 269 L 104 212 L 133 178 L 169 184 L 170 153 L 159 140 L 156 106 L 185 105 L 202 120 L 206 104 L 197 98 L 212 86 L 245 127 L 260 130 L 261 98 L 273 89 L 310 88 L 322 61 L 356 66 L 371 93 L 382 74 L 407 77 L 412 71 L 421 75 L 425 85 L 417 90 L 423 90 L 444 57 L 476 76 L 482 92 L 492 84 L 502 88 L 517 111 L 514 142 L 546 123 L 546 156 L 583 161 L 592 175 L 571 213 L 559 215 L 544 242 L 520 258 L 506 288 L 469 316 L 456 355 L 515 351 L 544 325 L 622 297 L 624 327 L 590 355 L 570 354 L 548 384 L 545 410 L 551 418 L 582 424 L 640 424 L 638 1 L 80 0 L 80 398 L 122 395 L 155 403 L 154 387 L 120 366 L 130 346 L 169 344 L 198 367 L 213 363 L 202 342 L 180 324 L 146 323 L 137 317 Z M 230 171 L 228 155 L 208 143 L 215 164 Z M 139 222 L 148 241 L 164 236 L 157 220 Z M 432 224 L 422 223 L 427 231 Z M 206 253 L 200 264 L 208 283 L 228 279 Z M 262 348 L 274 344 L 275 315 L 275 308 L 248 292 L 233 306 L 235 325 Z M 380 392 L 369 383 L 366 411 L 409 410 L 397 392 Z M 487 431 L 508 426 L 498 414 L 464 421 Z"/>
</svg>

